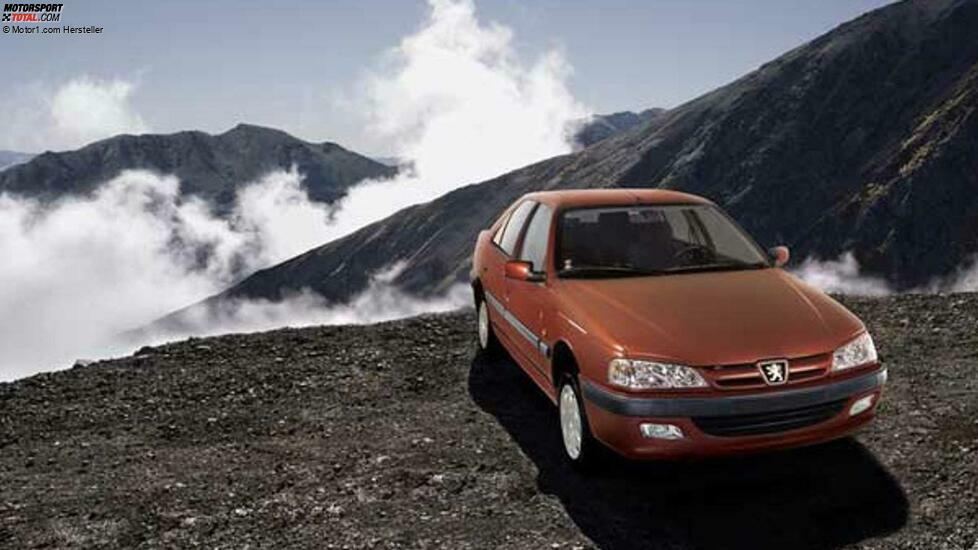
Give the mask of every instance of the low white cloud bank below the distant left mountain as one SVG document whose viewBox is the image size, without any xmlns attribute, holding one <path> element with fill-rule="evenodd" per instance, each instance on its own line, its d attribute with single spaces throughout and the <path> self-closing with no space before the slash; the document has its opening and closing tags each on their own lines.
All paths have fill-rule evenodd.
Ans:
<svg viewBox="0 0 978 550">
<path fill-rule="evenodd" d="M 117 352 L 118 333 L 319 243 L 328 219 L 294 171 L 243 186 L 226 219 L 143 171 L 54 204 L 0 196 L 0 378 Z"/>
</svg>

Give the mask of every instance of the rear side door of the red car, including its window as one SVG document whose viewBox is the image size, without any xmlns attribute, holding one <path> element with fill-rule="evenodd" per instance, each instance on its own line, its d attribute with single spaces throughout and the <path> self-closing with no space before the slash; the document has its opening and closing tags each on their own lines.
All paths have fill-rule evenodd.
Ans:
<svg viewBox="0 0 978 550">
<path fill-rule="evenodd" d="M 520 335 L 514 323 L 511 322 L 507 305 L 506 262 L 514 258 L 520 235 L 530 214 L 536 207 L 534 201 L 524 201 L 512 209 L 509 218 L 500 230 L 493 235 L 492 249 L 487 254 L 485 272 L 483 273 L 483 289 L 489 302 L 493 329 L 505 341 L 507 347 L 515 347 L 522 351 Z"/>
</svg>

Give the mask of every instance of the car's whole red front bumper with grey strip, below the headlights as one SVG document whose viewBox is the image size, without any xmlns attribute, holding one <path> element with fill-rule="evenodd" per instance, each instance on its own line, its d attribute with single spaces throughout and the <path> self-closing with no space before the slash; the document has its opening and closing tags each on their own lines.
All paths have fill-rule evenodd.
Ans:
<svg viewBox="0 0 978 550">
<path fill-rule="evenodd" d="M 878 368 L 817 386 L 715 397 L 634 397 L 588 380 L 582 380 L 581 390 L 591 431 L 606 445 L 629 458 L 682 458 L 782 449 L 844 437 L 872 420 L 886 378 L 886 369 Z M 875 396 L 872 406 L 850 415 L 853 403 L 868 395 Z M 717 426 L 736 428 L 740 419 L 761 425 L 762 433 L 748 429 L 718 435 Z M 799 424 L 798 419 L 807 423 Z M 646 438 L 639 428 L 646 422 L 673 424 L 684 437 Z"/>
</svg>

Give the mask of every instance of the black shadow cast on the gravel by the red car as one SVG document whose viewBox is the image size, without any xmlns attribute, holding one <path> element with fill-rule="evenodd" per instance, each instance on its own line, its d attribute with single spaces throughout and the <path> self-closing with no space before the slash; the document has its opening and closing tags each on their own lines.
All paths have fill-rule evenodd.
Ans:
<svg viewBox="0 0 978 550">
<path fill-rule="evenodd" d="M 600 548 L 829 548 L 907 522 L 900 485 L 853 439 L 683 463 L 611 458 L 585 476 L 562 456 L 555 407 L 510 359 L 476 357 L 469 392 Z"/>
</svg>

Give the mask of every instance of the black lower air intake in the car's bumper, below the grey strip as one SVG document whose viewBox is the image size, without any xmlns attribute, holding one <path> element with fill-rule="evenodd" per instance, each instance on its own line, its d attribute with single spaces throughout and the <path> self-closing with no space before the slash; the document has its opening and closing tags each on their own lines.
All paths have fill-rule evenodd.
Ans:
<svg viewBox="0 0 978 550">
<path fill-rule="evenodd" d="M 731 416 L 693 417 L 696 427 L 704 433 L 723 437 L 738 435 L 760 435 L 786 432 L 820 422 L 839 414 L 846 400 L 819 403 L 797 409 L 768 411 L 763 413 L 737 414 Z"/>
</svg>

